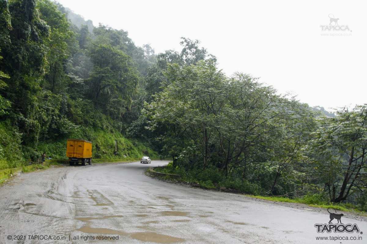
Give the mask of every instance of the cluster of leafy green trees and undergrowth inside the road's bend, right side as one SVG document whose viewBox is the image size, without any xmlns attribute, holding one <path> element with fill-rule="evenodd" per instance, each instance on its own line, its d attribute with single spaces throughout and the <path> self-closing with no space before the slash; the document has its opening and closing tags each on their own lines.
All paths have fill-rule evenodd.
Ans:
<svg viewBox="0 0 367 244">
<path fill-rule="evenodd" d="M 212 57 L 163 73 L 130 129 L 144 124 L 171 155 L 171 173 L 206 188 L 367 210 L 367 105 L 328 117 L 250 75 L 226 76 Z"/>
</svg>

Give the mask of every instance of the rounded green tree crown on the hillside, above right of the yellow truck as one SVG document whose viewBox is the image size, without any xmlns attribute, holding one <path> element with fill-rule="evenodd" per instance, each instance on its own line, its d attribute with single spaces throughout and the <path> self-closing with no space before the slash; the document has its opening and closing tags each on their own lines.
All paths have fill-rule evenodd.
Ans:
<svg viewBox="0 0 367 244">
<path fill-rule="evenodd" d="M 87 96 L 113 118 L 130 109 L 138 74 L 130 56 L 110 45 L 95 45 L 90 52 L 94 69 Z"/>
</svg>

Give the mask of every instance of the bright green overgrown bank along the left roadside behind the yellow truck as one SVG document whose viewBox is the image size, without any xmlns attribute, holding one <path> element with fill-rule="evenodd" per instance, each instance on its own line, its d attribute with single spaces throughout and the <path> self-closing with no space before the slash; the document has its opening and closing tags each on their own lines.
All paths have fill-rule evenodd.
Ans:
<svg viewBox="0 0 367 244">
<path fill-rule="evenodd" d="M 66 140 L 80 138 L 93 143 L 93 158 L 106 162 L 137 160 L 143 155 L 158 158 L 148 143 L 128 139 L 117 131 L 104 131 L 88 127 L 79 127 L 67 137 L 57 140 L 40 140 L 34 147 L 23 146 L 21 134 L 10 121 L 0 122 L 0 181 L 14 174 L 19 169 L 28 167 L 29 162 L 37 162 L 43 152 L 52 159 L 67 159 L 65 156 Z"/>
</svg>

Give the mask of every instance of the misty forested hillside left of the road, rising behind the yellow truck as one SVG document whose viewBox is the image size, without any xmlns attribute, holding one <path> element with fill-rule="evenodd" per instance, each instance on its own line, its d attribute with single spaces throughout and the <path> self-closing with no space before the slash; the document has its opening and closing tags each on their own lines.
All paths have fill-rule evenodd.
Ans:
<svg viewBox="0 0 367 244">
<path fill-rule="evenodd" d="M 67 138 L 92 141 L 104 161 L 158 157 L 124 136 L 155 61 L 149 45 L 49 0 L 0 0 L 0 10 L 0 170 L 37 164 L 43 152 L 65 160 Z"/>
</svg>

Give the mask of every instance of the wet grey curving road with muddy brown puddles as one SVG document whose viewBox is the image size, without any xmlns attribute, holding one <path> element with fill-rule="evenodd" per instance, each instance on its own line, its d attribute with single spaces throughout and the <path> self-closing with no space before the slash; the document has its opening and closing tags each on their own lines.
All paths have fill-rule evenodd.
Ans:
<svg viewBox="0 0 367 244">
<path fill-rule="evenodd" d="M 357 224 L 366 234 L 317 234 L 314 224 L 327 223 L 326 211 L 145 176 L 146 168 L 167 163 L 66 166 L 20 174 L 0 187 L 0 243 L 366 243 L 367 222 L 348 214 L 343 223 Z M 23 240 L 13 240 L 16 235 Z M 49 236 L 60 240 L 40 240 Z M 316 236 L 363 240 L 320 241 Z M 96 240 L 108 237 L 119 240 Z"/>
</svg>

